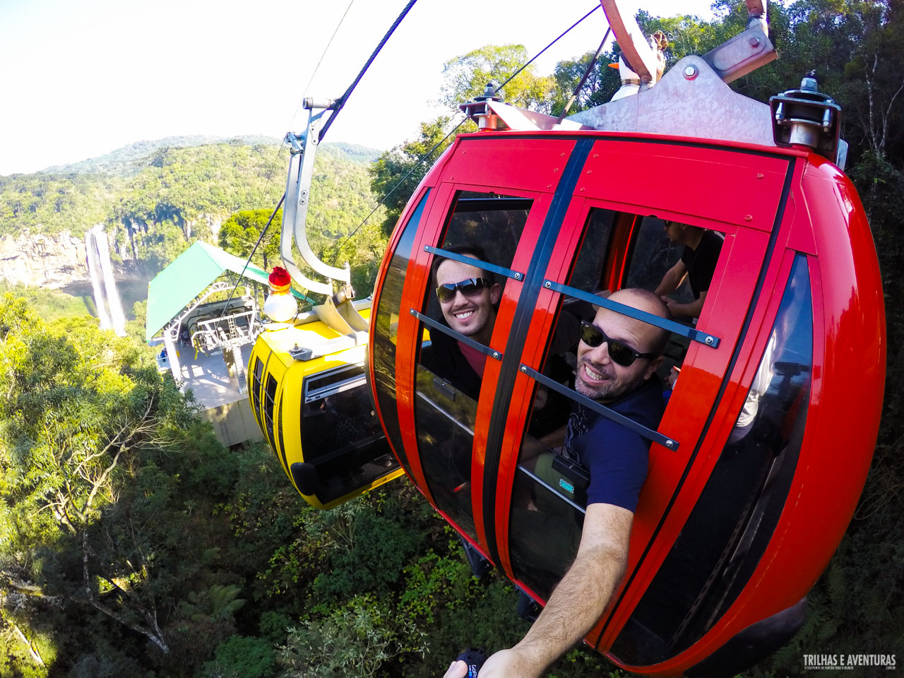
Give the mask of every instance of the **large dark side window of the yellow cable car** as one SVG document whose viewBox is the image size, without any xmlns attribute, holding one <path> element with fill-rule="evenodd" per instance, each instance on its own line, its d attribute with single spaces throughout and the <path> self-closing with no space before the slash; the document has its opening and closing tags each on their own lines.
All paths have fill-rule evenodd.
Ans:
<svg viewBox="0 0 904 678">
<path fill-rule="evenodd" d="M 301 447 L 304 466 L 297 478 L 303 494 L 323 503 L 353 492 L 386 474 L 394 464 L 373 411 L 361 365 L 338 371 L 335 380 L 315 390 L 306 383 L 302 405 Z M 317 382 L 329 381 L 318 378 Z"/>
</svg>

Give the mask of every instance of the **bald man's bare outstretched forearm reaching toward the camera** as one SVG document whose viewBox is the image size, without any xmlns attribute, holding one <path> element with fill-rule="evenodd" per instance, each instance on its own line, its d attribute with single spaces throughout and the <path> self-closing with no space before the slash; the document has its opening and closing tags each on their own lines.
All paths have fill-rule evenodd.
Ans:
<svg viewBox="0 0 904 678">
<path fill-rule="evenodd" d="M 523 640 L 486 660 L 480 678 L 539 678 L 597 623 L 625 572 L 634 513 L 590 504 L 578 555 Z"/>
</svg>

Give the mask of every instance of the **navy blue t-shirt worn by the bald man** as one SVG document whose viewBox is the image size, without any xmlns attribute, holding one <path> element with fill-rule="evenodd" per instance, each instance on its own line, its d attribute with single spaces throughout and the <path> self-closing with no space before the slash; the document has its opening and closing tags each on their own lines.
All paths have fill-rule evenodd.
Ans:
<svg viewBox="0 0 904 678">
<path fill-rule="evenodd" d="M 663 384 L 655 375 L 609 409 L 656 429 L 663 417 Z M 650 441 L 583 405 L 568 422 L 565 447 L 590 474 L 587 504 L 615 504 L 634 512 L 646 479 Z"/>
</svg>

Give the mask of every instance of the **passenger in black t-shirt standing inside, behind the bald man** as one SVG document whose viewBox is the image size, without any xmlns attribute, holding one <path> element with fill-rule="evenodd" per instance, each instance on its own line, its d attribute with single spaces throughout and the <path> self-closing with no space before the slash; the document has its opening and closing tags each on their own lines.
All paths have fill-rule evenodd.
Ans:
<svg viewBox="0 0 904 678">
<path fill-rule="evenodd" d="M 703 309 L 703 302 L 706 300 L 706 293 L 710 289 L 712 275 L 716 270 L 716 262 L 719 261 L 722 239 L 713 231 L 687 223 L 678 221 L 663 223 L 669 240 L 683 245 L 684 251 L 681 259 L 666 271 L 659 287 L 656 287 L 655 294 L 663 297 L 673 316 L 692 320 L 700 317 Z M 689 279 L 694 298 L 688 304 L 680 304 L 667 296 L 681 287 L 684 278 Z"/>
</svg>

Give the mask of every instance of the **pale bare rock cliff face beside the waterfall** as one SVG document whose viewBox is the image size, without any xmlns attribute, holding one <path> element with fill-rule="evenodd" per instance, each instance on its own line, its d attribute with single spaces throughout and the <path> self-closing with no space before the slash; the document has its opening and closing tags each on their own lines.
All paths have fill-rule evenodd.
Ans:
<svg viewBox="0 0 904 678">
<path fill-rule="evenodd" d="M 121 252 L 120 254 L 127 254 Z M 113 265 L 115 277 L 133 278 L 129 268 Z M 31 235 L 0 238 L 0 278 L 11 283 L 65 287 L 90 280 L 85 243 L 70 231 L 55 235 Z"/>
</svg>

